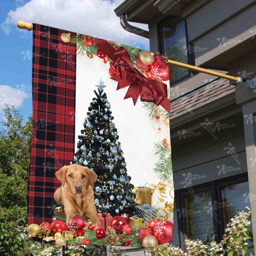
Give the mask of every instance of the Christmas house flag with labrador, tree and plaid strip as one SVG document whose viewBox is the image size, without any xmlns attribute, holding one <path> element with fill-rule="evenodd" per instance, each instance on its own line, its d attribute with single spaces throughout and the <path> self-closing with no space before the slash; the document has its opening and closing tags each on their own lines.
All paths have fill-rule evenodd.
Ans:
<svg viewBox="0 0 256 256">
<path fill-rule="evenodd" d="M 167 58 L 33 24 L 32 75 L 29 237 L 172 241 Z"/>
</svg>

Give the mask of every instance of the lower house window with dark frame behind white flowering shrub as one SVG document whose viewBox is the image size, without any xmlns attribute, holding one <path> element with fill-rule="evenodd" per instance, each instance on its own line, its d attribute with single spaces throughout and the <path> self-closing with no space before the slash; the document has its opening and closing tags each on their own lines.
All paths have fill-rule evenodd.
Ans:
<svg viewBox="0 0 256 256">
<path fill-rule="evenodd" d="M 171 244 L 184 250 L 186 238 L 220 242 L 227 223 L 246 206 L 247 174 L 176 191 Z"/>
</svg>

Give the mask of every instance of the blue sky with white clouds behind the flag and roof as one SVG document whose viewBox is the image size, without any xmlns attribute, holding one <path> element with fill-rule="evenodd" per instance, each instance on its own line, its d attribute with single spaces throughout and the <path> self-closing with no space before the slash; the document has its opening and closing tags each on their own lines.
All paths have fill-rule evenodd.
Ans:
<svg viewBox="0 0 256 256">
<path fill-rule="evenodd" d="M 32 115 L 32 31 L 18 29 L 18 20 L 150 50 L 148 39 L 129 33 L 121 27 L 114 9 L 122 2 L 123 0 L 2 0 L 0 119 L 3 119 L 5 103 L 14 105 L 24 116 L 24 120 Z M 132 25 L 148 30 L 144 24 Z"/>
</svg>

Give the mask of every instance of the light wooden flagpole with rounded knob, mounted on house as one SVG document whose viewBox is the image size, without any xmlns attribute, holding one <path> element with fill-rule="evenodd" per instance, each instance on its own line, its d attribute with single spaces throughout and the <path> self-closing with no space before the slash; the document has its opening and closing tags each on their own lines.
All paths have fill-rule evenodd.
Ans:
<svg viewBox="0 0 256 256">
<path fill-rule="evenodd" d="M 20 28 L 20 29 L 32 30 L 33 29 L 33 24 L 24 22 L 23 20 L 19 20 L 17 22 L 17 27 Z M 170 65 L 175 65 L 175 66 L 179 66 L 179 67 L 182 67 L 182 68 L 185 68 L 185 69 L 191 69 L 191 70 L 199 71 L 201 73 L 206 73 L 206 74 L 209 74 L 209 75 L 222 77 L 222 78 L 229 79 L 229 80 L 236 81 L 236 82 L 241 82 L 243 80 L 240 77 L 225 75 L 225 74 L 222 74 L 220 72 L 211 71 L 211 70 L 204 69 L 204 68 L 199 68 L 199 67 L 196 67 L 196 66 L 193 66 L 193 65 L 188 65 L 188 64 L 178 62 L 178 61 L 175 61 L 175 60 L 168 59 L 168 63 Z"/>
</svg>

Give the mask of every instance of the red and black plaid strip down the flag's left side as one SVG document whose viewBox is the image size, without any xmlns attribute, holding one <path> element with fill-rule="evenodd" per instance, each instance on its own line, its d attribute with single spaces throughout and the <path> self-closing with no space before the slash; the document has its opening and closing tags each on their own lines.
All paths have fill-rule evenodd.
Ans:
<svg viewBox="0 0 256 256">
<path fill-rule="evenodd" d="M 51 222 L 55 172 L 74 156 L 76 45 L 73 32 L 33 24 L 33 133 L 28 179 L 28 224 Z"/>
</svg>

